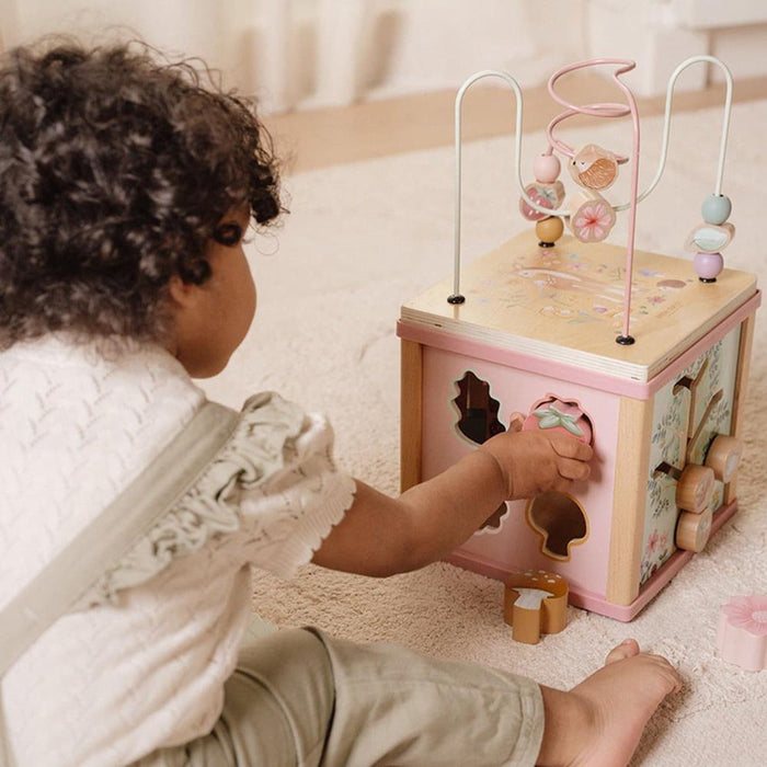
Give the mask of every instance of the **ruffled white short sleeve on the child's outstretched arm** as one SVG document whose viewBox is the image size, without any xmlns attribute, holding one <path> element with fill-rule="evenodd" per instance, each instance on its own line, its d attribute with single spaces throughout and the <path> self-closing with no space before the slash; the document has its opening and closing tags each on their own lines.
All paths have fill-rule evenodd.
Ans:
<svg viewBox="0 0 767 767">
<path fill-rule="evenodd" d="M 174 558 L 225 536 L 238 538 L 252 564 L 291 576 L 354 501 L 355 482 L 337 470 L 332 450 L 333 431 L 323 417 L 271 392 L 251 397 L 232 436 L 193 486 L 84 603 L 114 602 L 119 591 L 144 583 Z"/>
</svg>

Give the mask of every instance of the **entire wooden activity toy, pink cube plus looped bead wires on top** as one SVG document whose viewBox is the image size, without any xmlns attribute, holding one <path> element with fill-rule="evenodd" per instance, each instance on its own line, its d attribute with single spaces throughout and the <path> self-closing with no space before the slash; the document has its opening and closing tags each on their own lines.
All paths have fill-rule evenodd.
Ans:
<svg viewBox="0 0 767 767">
<path fill-rule="evenodd" d="M 690 263 L 636 251 L 633 242 L 638 206 L 666 163 L 676 79 L 706 62 L 724 72 L 726 95 L 713 191 L 702 221 L 679 238 L 679 249 L 694 253 Z M 563 75 L 592 66 L 615 68 L 626 103 L 584 106 L 557 93 Z M 588 482 L 504 504 L 449 560 L 503 581 L 551 571 L 568 581 L 572 604 L 619 620 L 633 618 L 736 511 L 737 435 L 760 304 L 755 277 L 724 268 L 721 255 L 734 236 L 722 194 L 732 103 L 726 67 L 698 56 L 671 76 L 659 168 L 640 192 L 639 114 L 620 80 L 633 66 L 595 59 L 554 72 L 549 92 L 564 111 L 549 124 L 527 183 L 517 82 L 485 70 L 463 83 L 456 96 L 453 277 L 404 304 L 398 323 L 403 489 L 518 415 L 524 428 L 565 431 L 595 450 Z M 485 77 L 501 78 L 516 98 L 519 211 L 534 230 L 461 274 L 461 103 Z M 574 115 L 629 118 L 630 153 L 565 144 L 556 134 Z M 629 198 L 610 202 L 623 167 Z M 622 211 L 628 241 L 608 243 Z"/>
</svg>

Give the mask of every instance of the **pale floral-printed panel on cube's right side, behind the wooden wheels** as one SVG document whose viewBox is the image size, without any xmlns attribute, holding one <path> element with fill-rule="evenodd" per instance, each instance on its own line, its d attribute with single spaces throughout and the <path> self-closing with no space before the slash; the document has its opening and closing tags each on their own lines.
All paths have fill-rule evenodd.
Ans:
<svg viewBox="0 0 767 767">
<path fill-rule="evenodd" d="M 640 583 L 650 579 L 676 550 L 674 536 L 679 512 L 676 506 L 676 481 L 665 473 L 655 472 L 655 468 L 663 461 L 678 469 L 684 468 L 688 428 L 691 426 L 695 431 L 707 415 L 707 410 L 706 422 L 691 455 L 692 462 L 703 462 L 706 450 L 717 434 L 730 433 L 740 337 L 739 327 L 655 393 Z M 706 360 L 708 364 L 703 369 Z M 683 378 L 694 380 L 701 370 L 702 377 L 695 388 L 695 413 L 690 419 L 690 390 L 677 387 L 677 382 Z M 709 403 L 720 390 L 722 396 L 709 409 Z M 723 485 L 717 482 L 711 502 L 714 511 L 721 505 L 722 497 Z"/>
</svg>

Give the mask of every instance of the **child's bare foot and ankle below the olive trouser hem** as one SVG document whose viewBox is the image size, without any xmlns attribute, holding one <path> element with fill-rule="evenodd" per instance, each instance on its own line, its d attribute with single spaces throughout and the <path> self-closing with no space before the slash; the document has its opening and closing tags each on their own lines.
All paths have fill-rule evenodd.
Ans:
<svg viewBox="0 0 767 767">
<path fill-rule="evenodd" d="M 679 689 L 668 661 L 626 640 L 570 692 L 541 686 L 546 724 L 538 764 L 625 767 L 650 717 Z"/>
</svg>

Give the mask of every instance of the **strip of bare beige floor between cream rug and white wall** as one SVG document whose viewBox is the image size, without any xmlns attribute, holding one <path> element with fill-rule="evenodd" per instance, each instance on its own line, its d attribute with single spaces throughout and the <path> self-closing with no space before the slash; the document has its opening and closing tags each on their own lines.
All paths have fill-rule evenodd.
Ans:
<svg viewBox="0 0 767 767">
<path fill-rule="evenodd" d="M 562 83 L 562 95 L 573 103 L 623 101 L 609 81 L 574 73 Z M 690 111 L 721 103 L 723 87 L 674 96 L 674 110 Z M 740 80 L 734 99 L 767 98 L 767 78 Z M 640 115 L 663 112 L 665 98 L 639 99 Z M 374 157 L 446 146 L 454 139 L 455 91 L 374 101 L 347 107 L 293 112 L 272 116 L 266 124 L 285 170 L 291 173 Z M 525 92 L 524 130 L 545 127 L 562 107 L 545 87 Z M 463 138 L 472 140 L 510 133 L 514 112 L 508 91 L 477 87 L 463 102 Z"/>
</svg>

